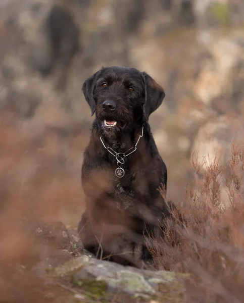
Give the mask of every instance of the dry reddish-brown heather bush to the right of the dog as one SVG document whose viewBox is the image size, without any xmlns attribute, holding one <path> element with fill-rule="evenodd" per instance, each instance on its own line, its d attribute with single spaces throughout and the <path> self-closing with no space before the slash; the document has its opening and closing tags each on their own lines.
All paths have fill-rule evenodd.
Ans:
<svg viewBox="0 0 244 303">
<path fill-rule="evenodd" d="M 161 244 L 155 243 L 156 249 L 152 249 L 158 268 L 194 277 L 186 288 L 187 302 L 243 301 L 244 148 L 242 142 L 234 142 L 230 148 L 229 170 L 219 165 L 217 155 L 202 161 L 198 153 L 191 155 L 194 182 L 187 187 L 181 205 L 183 226 L 174 212 L 177 227 L 172 231 L 169 225 Z M 226 170 L 228 177 L 223 176 Z M 227 186 L 228 206 L 222 203 L 221 178 Z M 175 234 L 179 242 L 172 247 Z"/>
</svg>

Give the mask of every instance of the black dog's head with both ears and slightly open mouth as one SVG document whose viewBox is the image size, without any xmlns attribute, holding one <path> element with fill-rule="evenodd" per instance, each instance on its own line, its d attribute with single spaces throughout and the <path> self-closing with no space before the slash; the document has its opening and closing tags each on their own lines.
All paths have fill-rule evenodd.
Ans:
<svg viewBox="0 0 244 303">
<path fill-rule="evenodd" d="M 133 125 L 148 121 L 161 105 L 163 88 L 145 72 L 135 68 L 102 68 L 82 87 L 104 134 L 131 130 Z"/>
</svg>

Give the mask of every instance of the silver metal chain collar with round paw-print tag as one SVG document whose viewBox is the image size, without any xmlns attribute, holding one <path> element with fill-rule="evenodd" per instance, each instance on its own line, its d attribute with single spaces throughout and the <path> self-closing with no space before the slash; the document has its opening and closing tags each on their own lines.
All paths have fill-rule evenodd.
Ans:
<svg viewBox="0 0 244 303">
<path fill-rule="evenodd" d="M 131 147 L 130 149 L 128 149 L 127 151 L 125 151 L 125 153 L 116 153 L 116 151 L 114 149 L 112 149 L 111 147 L 107 147 L 105 146 L 103 140 L 102 140 L 102 136 L 100 137 L 101 142 L 103 143 L 104 147 L 109 151 L 109 153 L 111 155 L 113 155 L 116 160 L 117 160 L 117 165 L 118 168 L 115 170 L 115 175 L 118 178 L 122 178 L 125 175 L 125 171 L 124 169 L 121 167 L 121 165 L 125 164 L 125 158 L 128 157 L 129 155 L 131 155 L 132 153 L 134 153 L 134 151 L 136 151 L 136 146 L 140 140 L 140 138 L 143 136 L 143 126 L 142 126 L 142 130 L 141 130 L 141 134 L 139 135 L 138 140 L 136 141 L 135 145 L 133 147 Z"/>
</svg>

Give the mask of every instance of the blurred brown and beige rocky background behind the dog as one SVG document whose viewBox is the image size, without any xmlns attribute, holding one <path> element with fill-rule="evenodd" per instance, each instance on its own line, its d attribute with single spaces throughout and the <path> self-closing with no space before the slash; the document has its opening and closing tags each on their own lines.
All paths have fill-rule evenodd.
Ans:
<svg viewBox="0 0 244 303">
<path fill-rule="evenodd" d="M 112 65 L 147 71 L 166 91 L 150 124 L 179 204 L 192 151 L 225 165 L 242 136 L 243 46 L 242 0 L 1 0 L 2 216 L 77 225 L 93 119 L 81 85 Z"/>
</svg>

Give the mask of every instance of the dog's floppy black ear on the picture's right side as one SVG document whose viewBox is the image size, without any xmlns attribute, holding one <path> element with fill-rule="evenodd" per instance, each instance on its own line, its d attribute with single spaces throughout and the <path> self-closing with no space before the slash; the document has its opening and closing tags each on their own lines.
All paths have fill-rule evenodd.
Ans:
<svg viewBox="0 0 244 303">
<path fill-rule="evenodd" d="M 145 120 L 148 121 L 149 116 L 162 104 L 165 92 L 163 88 L 147 73 L 142 72 L 141 74 L 145 86 L 143 114 Z"/>
</svg>

